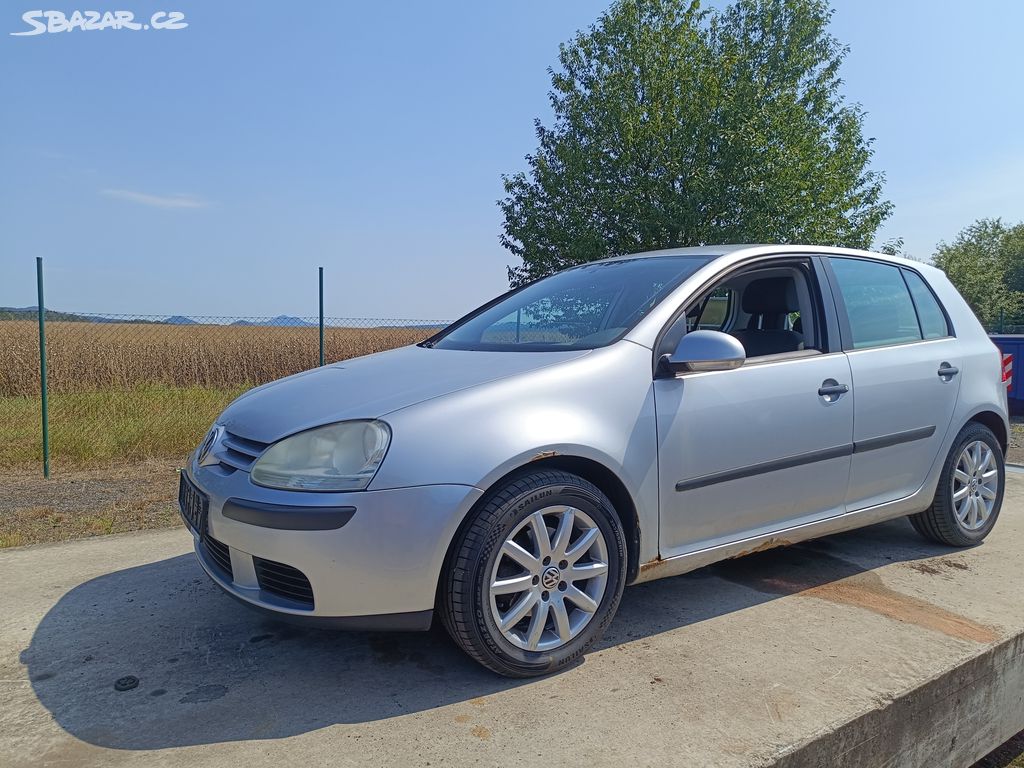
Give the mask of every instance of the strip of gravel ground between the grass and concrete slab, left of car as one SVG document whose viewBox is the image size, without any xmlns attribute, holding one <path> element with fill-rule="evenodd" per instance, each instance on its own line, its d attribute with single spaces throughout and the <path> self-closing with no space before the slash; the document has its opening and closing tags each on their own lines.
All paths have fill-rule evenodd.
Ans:
<svg viewBox="0 0 1024 768">
<path fill-rule="evenodd" d="M 124 466 L 4 472 L 0 548 L 176 525 L 177 467 L 147 460 Z"/>
</svg>

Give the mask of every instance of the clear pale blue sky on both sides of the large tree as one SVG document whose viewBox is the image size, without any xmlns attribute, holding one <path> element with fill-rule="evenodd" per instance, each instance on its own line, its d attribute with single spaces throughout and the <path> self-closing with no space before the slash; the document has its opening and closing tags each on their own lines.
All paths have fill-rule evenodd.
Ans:
<svg viewBox="0 0 1024 768">
<path fill-rule="evenodd" d="M 180 31 L 32 37 L 0 8 L 0 305 L 454 318 L 504 291 L 501 174 L 558 43 L 606 7 L 126 0 Z M 1024 3 L 839 0 L 900 236 L 1024 219 Z M 65 7 L 68 13 L 74 6 Z"/>
</svg>

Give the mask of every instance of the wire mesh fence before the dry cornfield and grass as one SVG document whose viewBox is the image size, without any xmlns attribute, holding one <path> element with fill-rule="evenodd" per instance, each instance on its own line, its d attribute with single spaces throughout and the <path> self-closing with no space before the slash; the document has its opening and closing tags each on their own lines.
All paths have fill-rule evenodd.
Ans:
<svg viewBox="0 0 1024 768">
<path fill-rule="evenodd" d="M 0 468 L 42 463 L 39 327 L 0 316 Z M 326 362 L 413 344 L 445 323 L 325 317 Z M 318 317 L 46 313 L 51 464 L 183 458 L 258 384 L 314 368 Z"/>
</svg>

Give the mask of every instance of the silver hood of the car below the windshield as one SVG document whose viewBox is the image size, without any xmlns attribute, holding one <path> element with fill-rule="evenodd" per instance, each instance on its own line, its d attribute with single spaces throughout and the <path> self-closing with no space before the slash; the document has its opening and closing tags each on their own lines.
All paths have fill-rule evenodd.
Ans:
<svg viewBox="0 0 1024 768">
<path fill-rule="evenodd" d="M 400 347 L 264 384 L 218 419 L 234 434 L 273 442 L 304 429 L 392 411 L 496 379 L 581 357 L 567 352 L 475 352 Z"/>
</svg>

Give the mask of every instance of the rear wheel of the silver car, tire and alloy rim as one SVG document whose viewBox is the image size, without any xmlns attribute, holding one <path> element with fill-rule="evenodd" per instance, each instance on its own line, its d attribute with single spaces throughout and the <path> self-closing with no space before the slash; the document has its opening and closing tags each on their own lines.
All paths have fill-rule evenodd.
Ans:
<svg viewBox="0 0 1024 768">
<path fill-rule="evenodd" d="M 985 465 L 976 474 L 970 471 L 969 464 L 964 463 L 973 461 L 973 458 L 965 460 L 964 457 L 969 447 L 975 446 L 978 446 L 978 455 L 982 457 L 980 463 Z M 982 446 L 987 447 L 987 452 Z M 994 474 L 991 474 L 993 470 Z M 966 482 L 965 478 L 974 483 Z M 933 542 L 950 547 L 974 546 L 981 543 L 995 525 L 1005 487 L 1006 464 L 999 441 L 988 427 L 970 422 L 949 449 L 932 506 L 910 515 L 910 524 Z M 954 494 L 962 493 L 964 497 L 954 502 Z M 976 500 L 973 511 L 969 508 L 972 496 Z"/>
</svg>

